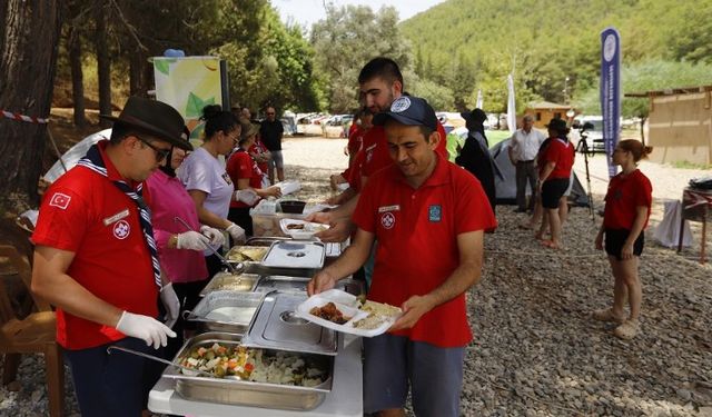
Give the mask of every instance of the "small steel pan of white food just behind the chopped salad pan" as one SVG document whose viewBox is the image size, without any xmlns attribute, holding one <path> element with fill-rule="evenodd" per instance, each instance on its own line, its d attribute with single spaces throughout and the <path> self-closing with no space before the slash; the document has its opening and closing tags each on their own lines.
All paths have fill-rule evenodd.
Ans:
<svg viewBox="0 0 712 417">
<path fill-rule="evenodd" d="M 186 311 L 188 321 L 196 321 L 201 331 L 245 334 L 265 297 L 260 292 L 212 291 Z"/>
</svg>

